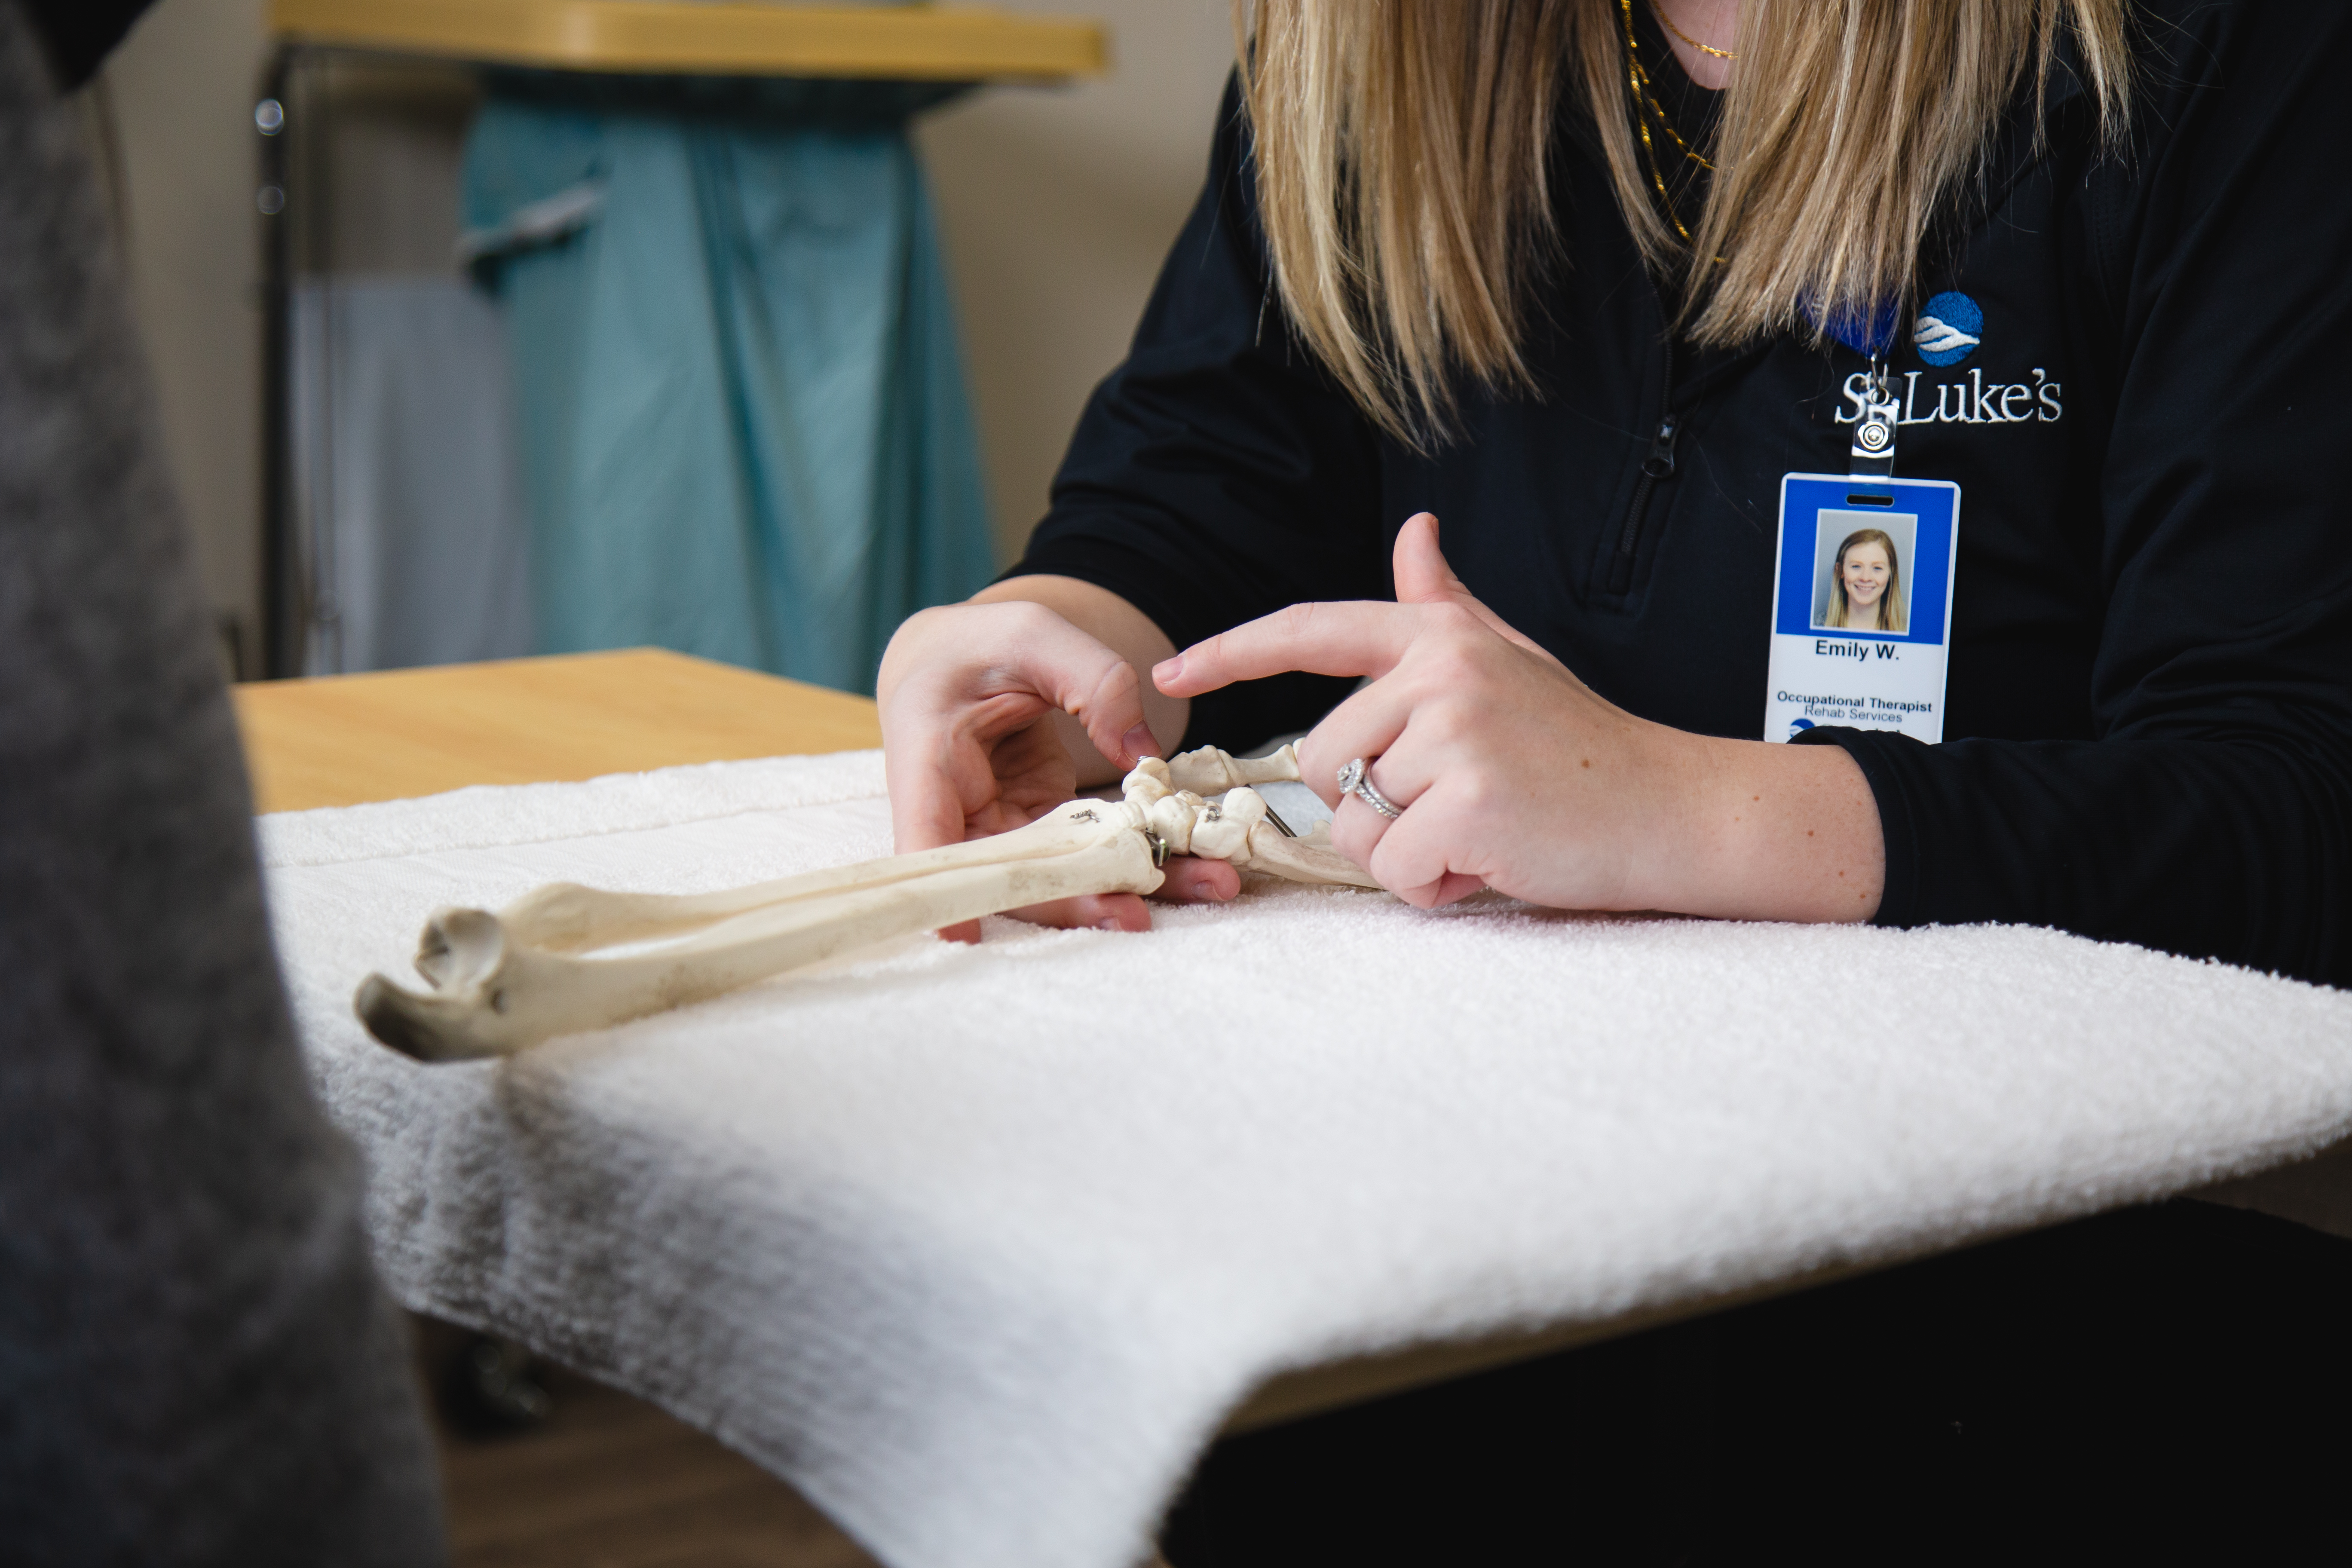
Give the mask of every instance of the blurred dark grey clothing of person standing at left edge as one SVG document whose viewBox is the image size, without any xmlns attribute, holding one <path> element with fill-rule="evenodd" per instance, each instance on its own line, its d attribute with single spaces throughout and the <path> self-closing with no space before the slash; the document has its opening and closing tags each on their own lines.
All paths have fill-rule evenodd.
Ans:
<svg viewBox="0 0 2352 1568">
<path fill-rule="evenodd" d="M 0 1561 L 421 1566 L 85 127 L 0 0 Z"/>
</svg>

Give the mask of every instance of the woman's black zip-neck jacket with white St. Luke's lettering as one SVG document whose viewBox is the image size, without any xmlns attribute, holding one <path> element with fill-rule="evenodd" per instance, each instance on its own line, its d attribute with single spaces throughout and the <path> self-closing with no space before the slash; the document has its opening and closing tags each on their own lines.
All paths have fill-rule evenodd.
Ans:
<svg viewBox="0 0 2352 1568">
<path fill-rule="evenodd" d="M 1900 473 L 1964 491 L 1945 743 L 1811 733 L 1877 792 L 1884 924 L 2037 922 L 2343 985 L 2352 94 L 2328 73 L 2352 9 L 2161 0 L 2138 33 L 2129 176 L 2093 179 L 2091 106 L 2060 71 L 2046 153 L 2020 103 L 1922 256 L 1924 292 L 1983 306 L 1983 346 L 1945 371 L 1907 334 L 1893 355 L 1919 421 Z M 1185 646 L 1298 599 L 1385 597 L 1395 531 L 1428 508 L 1463 581 L 1597 691 L 1755 738 L 1780 475 L 1846 470 L 1865 360 L 1795 339 L 1670 357 L 1590 136 L 1562 134 L 1571 254 L 1526 346 L 1543 395 L 1470 395 L 1463 437 L 1418 456 L 1291 343 L 1230 94 L 1223 115 L 1014 571 L 1101 583 Z M 1668 400 L 1677 468 L 1637 508 Z M 1188 743 L 1303 729 L 1343 689 L 1200 698 Z"/>
</svg>

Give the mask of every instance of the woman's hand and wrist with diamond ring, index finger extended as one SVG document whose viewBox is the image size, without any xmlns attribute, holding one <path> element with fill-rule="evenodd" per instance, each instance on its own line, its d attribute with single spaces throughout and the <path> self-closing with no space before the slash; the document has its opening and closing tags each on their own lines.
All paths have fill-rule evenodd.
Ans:
<svg viewBox="0 0 2352 1568">
<path fill-rule="evenodd" d="M 1371 675 L 1298 743 L 1298 766 L 1336 802 L 1334 846 L 1423 907 L 1494 886 L 1576 910 L 1877 910 L 1877 804 L 1842 748 L 1691 736 L 1602 701 L 1463 588 L 1428 512 L 1397 536 L 1395 581 L 1395 604 L 1294 604 L 1152 679 L 1200 696 L 1282 670 Z M 1341 797 L 1352 757 L 1397 820 Z"/>
</svg>

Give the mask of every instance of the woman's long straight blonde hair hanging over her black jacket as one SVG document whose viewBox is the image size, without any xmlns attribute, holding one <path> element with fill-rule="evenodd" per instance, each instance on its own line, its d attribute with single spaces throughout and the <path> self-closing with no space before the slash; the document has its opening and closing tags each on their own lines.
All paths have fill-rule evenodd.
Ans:
<svg viewBox="0 0 2352 1568">
<path fill-rule="evenodd" d="M 2110 146 L 2131 94 L 2129 0 L 1748 0 L 1684 242 L 1635 143 L 1623 0 L 1232 0 L 1232 16 L 1282 303 L 1416 447 L 1451 425 L 1461 378 L 1534 390 L 1519 346 L 1529 277 L 1559 254 L 1566 78 L 1635 242 L 1682 284 L 1677 327 L 1710 346 L 1818 341 L 1825 320 L 1907 299 L 1929 221 L 2027 68 L 2039 106 L 2067 26 Z"/>
</svg>

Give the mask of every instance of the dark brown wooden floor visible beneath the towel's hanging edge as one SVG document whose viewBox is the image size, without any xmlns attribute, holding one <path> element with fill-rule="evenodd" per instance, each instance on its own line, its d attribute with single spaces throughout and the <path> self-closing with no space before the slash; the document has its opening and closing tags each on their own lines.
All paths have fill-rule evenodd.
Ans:
<svg viewBox="0 0 2352 1568">
<path fill-rule="evenodd" d="M 456 1568 L 875 1568 L 790 1486 L 649 1403 L 548 1368 L 543 1427 L 442 1432 Z"/>
</svg>

